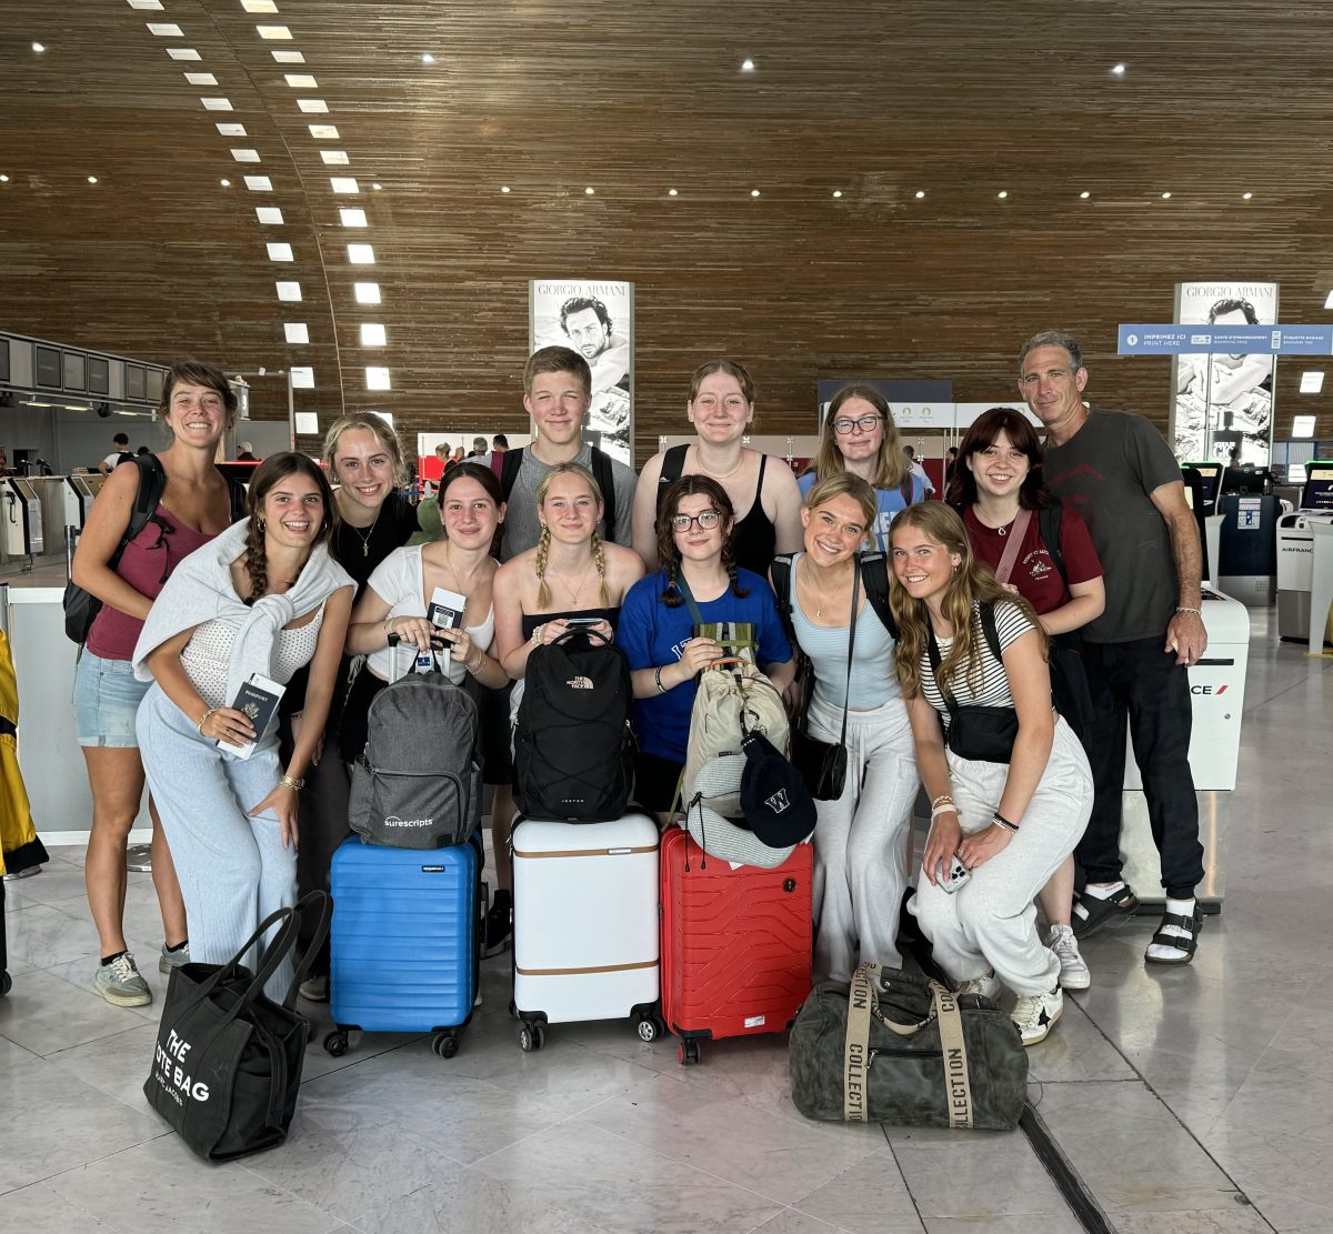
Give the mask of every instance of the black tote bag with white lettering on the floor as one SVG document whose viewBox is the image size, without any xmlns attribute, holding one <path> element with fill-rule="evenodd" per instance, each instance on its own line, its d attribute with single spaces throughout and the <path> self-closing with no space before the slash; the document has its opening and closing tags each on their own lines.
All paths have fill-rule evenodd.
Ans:
<svg viewBox="0 0 1333 1234">
<path fill-rule="evenodd" d="M 312 892 L 297 908 L 272 913 L 227 963 L 172 970 L 144 1095 L 204 1161 L 233 1161 L 287 1138 L 309 1034 L 296 991 L 328 933 L 331 905 Z M 301 913 L 313 909 L 315 938 L 287 997 L 275 1002 L 264 982 L 296 946 Z M 251 973 L 241 957 L 273 926 L 281 929 Z"/>
</svg>

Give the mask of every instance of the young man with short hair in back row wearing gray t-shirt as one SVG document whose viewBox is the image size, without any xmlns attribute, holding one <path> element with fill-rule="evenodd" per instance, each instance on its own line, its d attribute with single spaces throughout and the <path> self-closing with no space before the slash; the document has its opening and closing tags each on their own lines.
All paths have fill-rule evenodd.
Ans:
<svg viewBox="0 0 1333 1234">
<path fill-rule="evenodd" d="M 609 493 L 603 497 L 608 509 L 615 504 L 616 525 L 608 528 L 603 518 L 597 524 L 597 532 L 604 540 L 628 546 L 639 477 L 608 454 L 595 460 L 595 446 L 584 444 L 584 420 L 592 405 L 588 361 L 567 346 L 547 346 L 528 358 L 524 382 L 527 389 L 523 405 L 532 416 L 537 432 L 532 442 L 523 448 L 519 472 L 508 492 L 509 508 L 505 513 L 500 560 L 516 557 L 541 538 L 537 486 L 547 472 L 560 462 L 581 462 L 599 481 L 607 474 L 612 477 L 615 501 L 612 502 Z M 509 462 L 508 453 L 503 461 Z"/>
</svg>

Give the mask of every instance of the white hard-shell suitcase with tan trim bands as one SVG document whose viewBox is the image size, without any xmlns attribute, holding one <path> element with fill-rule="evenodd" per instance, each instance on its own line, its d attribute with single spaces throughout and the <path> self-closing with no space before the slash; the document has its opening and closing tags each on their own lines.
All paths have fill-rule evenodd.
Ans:
<svg viewBox="0 0 1333 1234">
<path fill-rule="evenodd" d="M 524 820 L 513 832 L 513 1013 L 519 1043 L 548 1023 L 631 1017 L 641 1039 L 659 1013 L 657 825 Z"/>
</svg>

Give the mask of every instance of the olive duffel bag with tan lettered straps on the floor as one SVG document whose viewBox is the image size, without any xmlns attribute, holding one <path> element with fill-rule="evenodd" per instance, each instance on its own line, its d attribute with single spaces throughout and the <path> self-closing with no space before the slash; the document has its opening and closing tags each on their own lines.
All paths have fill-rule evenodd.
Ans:
<svg viewBox="0 0 1333 1234">
<path fill-rule="evenodd" d="M 1028 1086 L 1018 1030 L 989 998 L 880 965 L 810 991 L 790 1069 L 806 1118 L 916 1127 L 1008 1131 Z"/>
</svg>

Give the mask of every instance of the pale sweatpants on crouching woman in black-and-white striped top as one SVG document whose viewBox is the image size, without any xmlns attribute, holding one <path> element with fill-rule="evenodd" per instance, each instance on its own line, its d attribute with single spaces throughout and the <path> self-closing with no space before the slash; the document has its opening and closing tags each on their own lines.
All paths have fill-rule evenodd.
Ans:
<svg viewBox="0 0 1333 1234">
<path fill-rule="evenodd" d="M 949 785 L 964 834 L 985 830 L 1000 808 L 1008 764 L 968 762 L 949 753 Z M 1037 892 L 1073 852 L 1092 814 L 1092 772 L 1078 738 L 1056 720 L 1050 757 L 1018 834 L 972 872 L 952 896 L 922 873 L 910 910 L 940 967 L 954 981 L 996 975 L 1014 994 L 1041 994 L 1060 961 L 1037 934 Z M 175 852 L 175 850 L 173 850 Z"/>
</svg>

